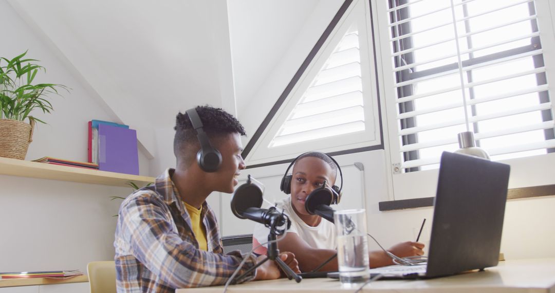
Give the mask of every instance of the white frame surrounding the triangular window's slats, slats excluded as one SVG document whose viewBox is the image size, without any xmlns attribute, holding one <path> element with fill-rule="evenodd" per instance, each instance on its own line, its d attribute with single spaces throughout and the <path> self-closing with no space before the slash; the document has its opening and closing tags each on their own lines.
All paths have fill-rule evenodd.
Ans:
<svg viewBox="0 0 555 293">
<path fill-rule="evenodd" d="M 242 155 L 249 166 L 248 168 L 280 164 L 295 158 L 295 156 L 302 151 L 315 149 L 324 151 L 330 155 L 384 149 L 381 105 L 379 101 L 380 95 L 377 79 L 378 72 L 376 68 L 376 59 L 374 57 L 376 48 L 375 42 L 371 38 L 371 30 L 373 27 L 371 25 L 372 19 L 369 17 L 369 4 L 367 0 L 345 1 L 338 14 L 336 14 L 336 18 L 339 16 L 339 19 L 334 18 L 334 21 L 330 23 L 330 26 L 320 38 L 320 44 L 317 43 L 312 49 L 309 57 L 307 57 L 305 63 L 301 65 L 301 68 L 297 71 L 297 74 L 291 80 L 291 83 L 287 86 L 284 93 L 282 93 L 263 124 L 245 146 L 245 151 L 243 151 Z M 355 9 L 364 9 L 364 11 L 355 11 Z M 363 63 L 362 58 L 365 58 L 367 64 L 370 64 L 369 68 L 361 68 L 366 125 L 364 133 L 372 135 L 366 135 L 370 138 L 366 138 L 364 135 L 361 137 L 362 132 L 358 132 L 342 135 L 341 137 L 310 140 L 271 149 L 268 148 L 265 144 L 273 139 L 273 134 L 277 132 L 281 124 L 285 122 L 287 117 L 285 114 L 290 113 L 291 110 L 294 109 L 296 102 L 301 98 L 304 90 L 306 90 L 311 80 L 319 72 L 319 70 L 314 70 L 314 68 L 321 68 L 321 65 L 326 62 L 329 53 L 333 52 L 335 45 L 341 40 L 343 33 L 351 26 L 349 19 L 352 16 L 350 16 L 350 13 L 362 14 L 359 30 L 361 29 L 360 26 L 363 25 L 364 28 L 362 28 L 362 30 L 364 31 L 365 37 L 360 38 L 361 63 Z M 337 34 L 341 35 L 337 37 Z M 322 38 L 325 39 L 322 41 Z M 364 40 L 366 40 L 366 42 L 362 42 Z M 326 57 L 321 58 L 322 56 Z M 372 121 L 367 121 L 367 119 L 370 118 Z M 322 148 L 322 145 L 325 145 L 325 147 Z"/>
</svg>

